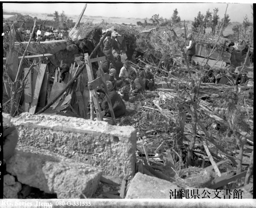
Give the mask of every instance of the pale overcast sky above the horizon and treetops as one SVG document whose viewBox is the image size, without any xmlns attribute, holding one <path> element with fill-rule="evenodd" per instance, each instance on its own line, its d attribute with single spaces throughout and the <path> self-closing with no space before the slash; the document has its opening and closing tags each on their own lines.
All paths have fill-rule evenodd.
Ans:
<svg viewBox="0 0 256 208">
<path fill-rule="evenodd" d="M 54 1 L 57 2 L 57 1 Z M 63 1 L 62 1 L 63 2 Z M 126 1 L 129 2 L 129 1 Z M 131 2 L 131 1 L 130 1 Z M 210 12 L 214 8 L 219 8 L 219 16 L 222 18 L 225 14 L 226 6 L 228 3 L 227 14 L 231 22 L 242 22 L 245 15 L 252 20 L 252 1 L 244 0 L 246 4 L 241 1 L 225 1 L 226 3 L 148 3 L 152 1 L 144 1 L 147 3 L 116 3 L 109 2 L 102 3 L 88 3 L 84 15 L 88 16 L 103 16 L 103 17 L 124 17 L 124 18 L 148 18 L 150 19 L 154 14 L 159 14 L 163 18 L 171 18 L 173 10 L 177 8 L 181 20 L 194 20 L 197 13 L 200 11 L 205 14 L 207 9 Z M 165 1 L 168 2 L 168 1 Z M 175 1 L 172 1 L 175 2 Z M 188 0 L 187 0 L 188 2 Z M 207 2 L 207 1 L 196 1 Z M 214 1 L 211 1 L 214 2 Z M 79 15 L 85 3 L 3 3 L 4 11 L 15 12 L 32 12 L 32 13 L 53 13 L 54 11 L 66 14 Z"/>
</svg>

